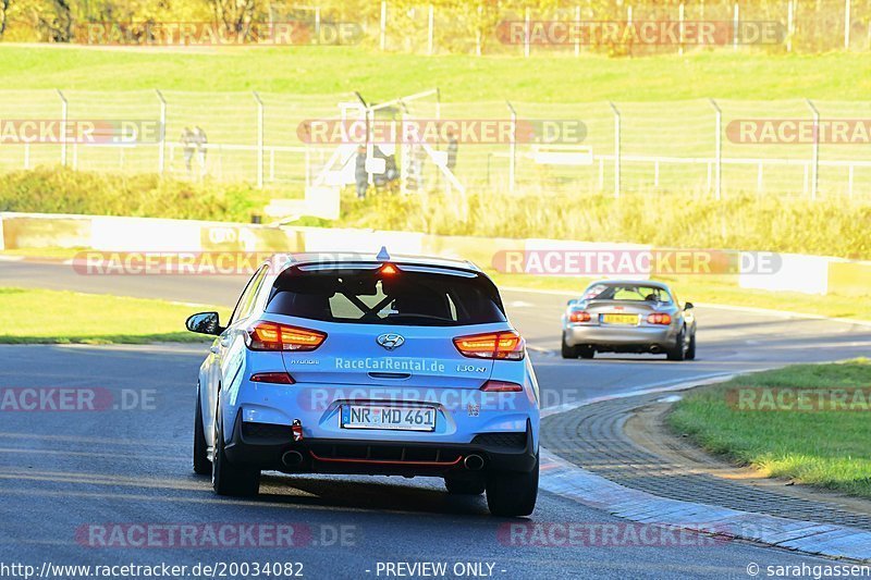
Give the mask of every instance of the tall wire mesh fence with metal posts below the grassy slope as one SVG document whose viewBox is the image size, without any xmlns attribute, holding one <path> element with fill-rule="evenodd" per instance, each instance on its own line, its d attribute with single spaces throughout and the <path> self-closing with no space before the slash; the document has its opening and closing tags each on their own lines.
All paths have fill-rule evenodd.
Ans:
<svg viewBox="0 0 871 580">
<path fill-rule="evenodd" d="M 848 120 L 867 129 L 871 101 L 440 102 L 438 91 L 426 95 L 397 99 L 379 110 L 391 111 L 394 118 L 440 122 L 579 120 L 586 127 L 582 143 L 556 155 L 541 143 L 461 140 L 451 173 L 457 188 L 470 193 L 868 198 L 871 190 L 871 137 L 851 143 L 756 144 L 736 140 L 728 128 L 738 120 L 815 122 L 817 126 Z M 22 144 L 0 135 L 0 171 L 65 164 L 75 170 L 160 173 L 188 180 L 208 175 L 266 186 L 286 197 L 299 196 L 307 186 L 323 182 L 324 172 L 347 169 L 353 162 L 347 155 L 336 161 L 341 156 L 335 145 L 306 143 L 300 124 L 360 109 L 360 99 L 349 94 L 7 90 L 0 91 L 0 119 L 7 122 L 155 120 L 164 127 L 163 137 L 155 143 L 122 146 Z M 181 135 L 185 127 L 195 126 L 203 127 L 208 144 L 204 155 L 185 156 Z M 431 145 L 434 150 L 445 149 L 444 143 Z M 395 156 L 405 174 L 410 166 L 410 160 L 403 159 L 407 150 L 396 147 Z M 440 192 L 451 185 L 453 176 L 443 168 L 438 171 L 434 159 L 426 159 L 425 164 L 428 173 L 421 173 L 427 176 L 420 180 L 422 185 L 412 190 L 403 187 L 403 192 Z"/>
</svg>

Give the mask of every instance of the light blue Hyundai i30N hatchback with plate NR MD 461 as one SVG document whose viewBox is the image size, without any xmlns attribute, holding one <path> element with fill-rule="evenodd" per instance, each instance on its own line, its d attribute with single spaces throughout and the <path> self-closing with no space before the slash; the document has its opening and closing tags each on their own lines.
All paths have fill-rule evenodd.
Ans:
<svg viewBox="0 0 871 580">
<path fill-rule="evenodd" d="M 532 513 L 539 390 L 493 282 L 466 261 L 279 256 L 248 282 L 199 370 L 194 470 L 221 495 L 260 472 L 430 476 Z"/>
</svg>

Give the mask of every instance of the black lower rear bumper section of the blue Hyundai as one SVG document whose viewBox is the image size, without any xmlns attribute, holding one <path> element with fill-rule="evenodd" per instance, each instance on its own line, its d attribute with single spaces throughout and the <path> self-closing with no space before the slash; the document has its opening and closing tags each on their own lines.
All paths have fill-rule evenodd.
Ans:
<svg viewBox="0 0 871 580">
<path fill-rule="evenodd" d="M 298 452 L 302 461 L 282 457 Z M 468 443 L 309 439 L 294 442 L 291 428 L 245 423 L 240 417 L 225 446 L 233 464 L 287 473 L 436 476 L 467 471 L 471 455 L 483 459 L 482 470 L 531 471 L 536 453 L 531 422 L 526 431 L 482 433 Z"/>
</svg>

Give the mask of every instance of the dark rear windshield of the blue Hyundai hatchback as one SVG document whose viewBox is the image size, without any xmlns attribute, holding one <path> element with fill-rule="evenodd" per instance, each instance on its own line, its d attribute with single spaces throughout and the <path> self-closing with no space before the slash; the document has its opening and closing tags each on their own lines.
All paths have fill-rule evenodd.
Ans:
<svg viewBox="0 0 871 580">
<path fill-rule="evenodd" d="M 401 268 L 401 267 L 400 267 Z M 358 324 L 456 326 L 505 322 L 492 282 L 451 273 L 285 272 L 267 312 Z"/>
</svg>

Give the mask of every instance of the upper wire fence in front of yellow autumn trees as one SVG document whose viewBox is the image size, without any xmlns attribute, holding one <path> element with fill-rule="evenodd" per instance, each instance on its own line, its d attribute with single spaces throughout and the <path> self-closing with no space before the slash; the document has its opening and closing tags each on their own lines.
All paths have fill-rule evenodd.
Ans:
<svg viewBox="0 0 871 580">
<path fill-rule="evenodd" d="M 363 2 L 346 0 L 309 2 L 304 12 L 272 4 L 271 17 L 312 20 L 317 24 L 353 21 L 363 26 L 364 42 L 384 51 L 426 54 L 459 52 L 477 54 L 525 54 L 540 52 L 608 51 L 627 54 L 683 52 L 689 42 L 506 42 L 499 34 L 505 22 L 722 22 L 739 29 L 741 23 L 772 22 L 783 30 L 780 41 L 761 47 L 775 52 L 871 49 L 871 4 L 857 0 L 780 0 L 747 2 L 709 1 L 621 1 L 553 2 L 549 8 L 525 8 L 524 2 L 459 2 L 454 7 L 427 2 Z M 729 50 L 739 44 L 727 42 Z"/>
</svg>

